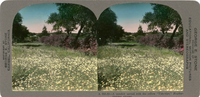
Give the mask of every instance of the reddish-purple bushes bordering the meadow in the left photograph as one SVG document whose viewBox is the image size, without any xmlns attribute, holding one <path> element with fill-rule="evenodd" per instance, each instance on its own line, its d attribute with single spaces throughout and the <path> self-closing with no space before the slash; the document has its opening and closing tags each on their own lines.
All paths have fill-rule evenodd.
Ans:
<svg viewBox="0 0 200 97">
<path fill-rule="evenodd" d="M 51 46 L 60 46 L 67 49 L 74 49 L 88 53 L 87 55 L 96 55 L 97 54 L 97 41 L 94 37 L 88 36 L 83 40 L 75 41 L 74 37 L 69 36 L 66 40 L 66 35 L 52 35 L 52 36 L 43 36 L 39 40 L 40 42 L 51 45 Z"/>
</svg>

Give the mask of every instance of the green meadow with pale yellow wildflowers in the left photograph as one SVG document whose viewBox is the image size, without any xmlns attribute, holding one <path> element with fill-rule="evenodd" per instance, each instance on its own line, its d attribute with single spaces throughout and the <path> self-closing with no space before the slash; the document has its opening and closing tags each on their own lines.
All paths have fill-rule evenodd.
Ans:
<svg viewBox="0 0 200 97">
<path fill-rule="evenodd" d="M 38 43 L 19 43 L 12 47 L 14 91 L 97 91 L 96 57 L 35 45 Z"/>
</svg>

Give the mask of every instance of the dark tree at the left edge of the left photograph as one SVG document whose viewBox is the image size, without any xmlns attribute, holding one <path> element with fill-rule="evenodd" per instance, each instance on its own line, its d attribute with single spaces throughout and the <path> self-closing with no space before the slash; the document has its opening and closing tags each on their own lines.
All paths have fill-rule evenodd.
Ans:
<svg viewBox="0 0 200 97">
<path fill-rule="evenodd" d="M 24 39 L 28 36 L 28 34 L 29 34 L 29 31 L 27 27 L 22 25 L 21 14 L 17 13 L 13 20 L 13 28 L 12 28 L 13 41 L 16 41 L 16 42 L 24 41 Z"/>
</svg>

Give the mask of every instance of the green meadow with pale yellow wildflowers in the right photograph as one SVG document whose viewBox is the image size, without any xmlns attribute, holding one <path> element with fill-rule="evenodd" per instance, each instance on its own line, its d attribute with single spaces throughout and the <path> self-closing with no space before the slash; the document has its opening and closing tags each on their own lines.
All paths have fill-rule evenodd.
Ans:
<svg viewBox="0 0 200 97">
<path fill-rule="evenodd" d="M 102 91 L 183 91 L 183 56 L 168 49 L 99 47 L 97 63 Z"/>
</svg>

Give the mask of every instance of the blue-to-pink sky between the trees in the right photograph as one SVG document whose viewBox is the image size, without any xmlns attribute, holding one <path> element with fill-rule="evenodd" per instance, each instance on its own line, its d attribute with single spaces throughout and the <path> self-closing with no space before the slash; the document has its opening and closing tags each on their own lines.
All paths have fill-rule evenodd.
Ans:
<svg viewBox="0 0 200 97">
<path fill-rule="evenodd" d="M 117 15 L 117 24 L 126 32 L 137 32 L 139 25 L 143 31 L 147 31 L 147 24 L 142 24 L 140 21 L 146 12 L 153 12 L 150 3 L 119 4 L 110 8 Z"/>
</svg>

